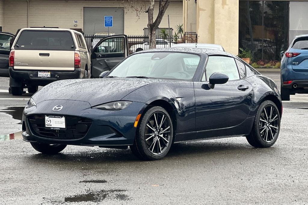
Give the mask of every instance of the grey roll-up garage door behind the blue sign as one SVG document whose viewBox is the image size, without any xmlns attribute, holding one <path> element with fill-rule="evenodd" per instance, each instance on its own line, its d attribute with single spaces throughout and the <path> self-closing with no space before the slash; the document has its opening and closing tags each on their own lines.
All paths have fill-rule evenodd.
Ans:
<svg viewBox="0 0 308 205">
<path fill-rule="evenodd" d="M 83 32 L 93 35 L 100 32 L 108 32 L 104 26 L 104 16 L 112 16 L 113 25 L 109 32 L 124 34 L 124 10 L 114 7 L 84 7 L 83 8 Z"/>
</svg>

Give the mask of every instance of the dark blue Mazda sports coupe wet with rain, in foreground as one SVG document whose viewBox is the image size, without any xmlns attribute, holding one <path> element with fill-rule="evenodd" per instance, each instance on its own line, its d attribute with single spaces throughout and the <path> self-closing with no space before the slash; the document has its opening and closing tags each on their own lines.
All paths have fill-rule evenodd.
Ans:
<svg viewBox="0 0 308 205">
<path fill-rule="evenodd" d="M 127 149 L 163 158 L 173 143 L 245 136 L 277 140 L 277 86 L 232 54 L 198 48 L 137 52 L 98 79 L 52 82 L 23 112 L 22 136 L 55 154 L 67 145 Z"/>
</svg>

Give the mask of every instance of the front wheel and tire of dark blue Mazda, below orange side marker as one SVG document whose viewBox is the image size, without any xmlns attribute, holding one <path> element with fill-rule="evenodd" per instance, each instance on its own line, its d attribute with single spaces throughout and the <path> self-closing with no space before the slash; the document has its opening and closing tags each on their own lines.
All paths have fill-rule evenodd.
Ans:
<svg viewBox="0 0 308 205">
<path fill-rule="evenodd" d="M 162 107 L 155 106 L 148 109 L 141 117 L 135 142 L 130 148 L 140 159 L 158 160 L 167 155 L 172 139 L 173 126 L 168 112 Z"/>
</svg>

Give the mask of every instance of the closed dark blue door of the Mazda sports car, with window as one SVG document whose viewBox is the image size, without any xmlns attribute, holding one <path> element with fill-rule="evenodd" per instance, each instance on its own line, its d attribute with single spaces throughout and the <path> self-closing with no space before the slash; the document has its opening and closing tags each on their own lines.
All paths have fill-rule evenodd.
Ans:
<svg viewBox="0 0 308 205">
<path fill-rule="evenodd" d="M 243 63 L 242 66 L 245 69 Z M 225 84 L 217 84 L 210 89 L 208 80 L 215 72 L 228 75 L 229 81 Z M 243 76 L 242 73 L 241 69 L 239 72 L 237 62 L 233 57 L 208 57 L 203 79 L 201 82 L 194 82 L 196 129 L 199 131 L 197 138 L 240 134 L 225 128 L 243 123 L 252 106 L 253 87 L 245 81 L 245 75 Z M 215 132 L 215 130 L 219 131 Z"/>
</svg>

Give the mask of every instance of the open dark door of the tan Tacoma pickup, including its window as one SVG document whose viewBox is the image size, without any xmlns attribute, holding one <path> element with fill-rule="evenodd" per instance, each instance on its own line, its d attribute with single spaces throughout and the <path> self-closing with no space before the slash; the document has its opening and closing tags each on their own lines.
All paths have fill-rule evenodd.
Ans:
<svg viewBox="0 0 308 205">
<path fill-rule="evenodd" d="M 91 74 L 98 78 L 103 71 L 111 70 L 128 56 L 128 40 L 126 35 L 114 35 L 100 40 L 92 50 Z"/>
</svg>

